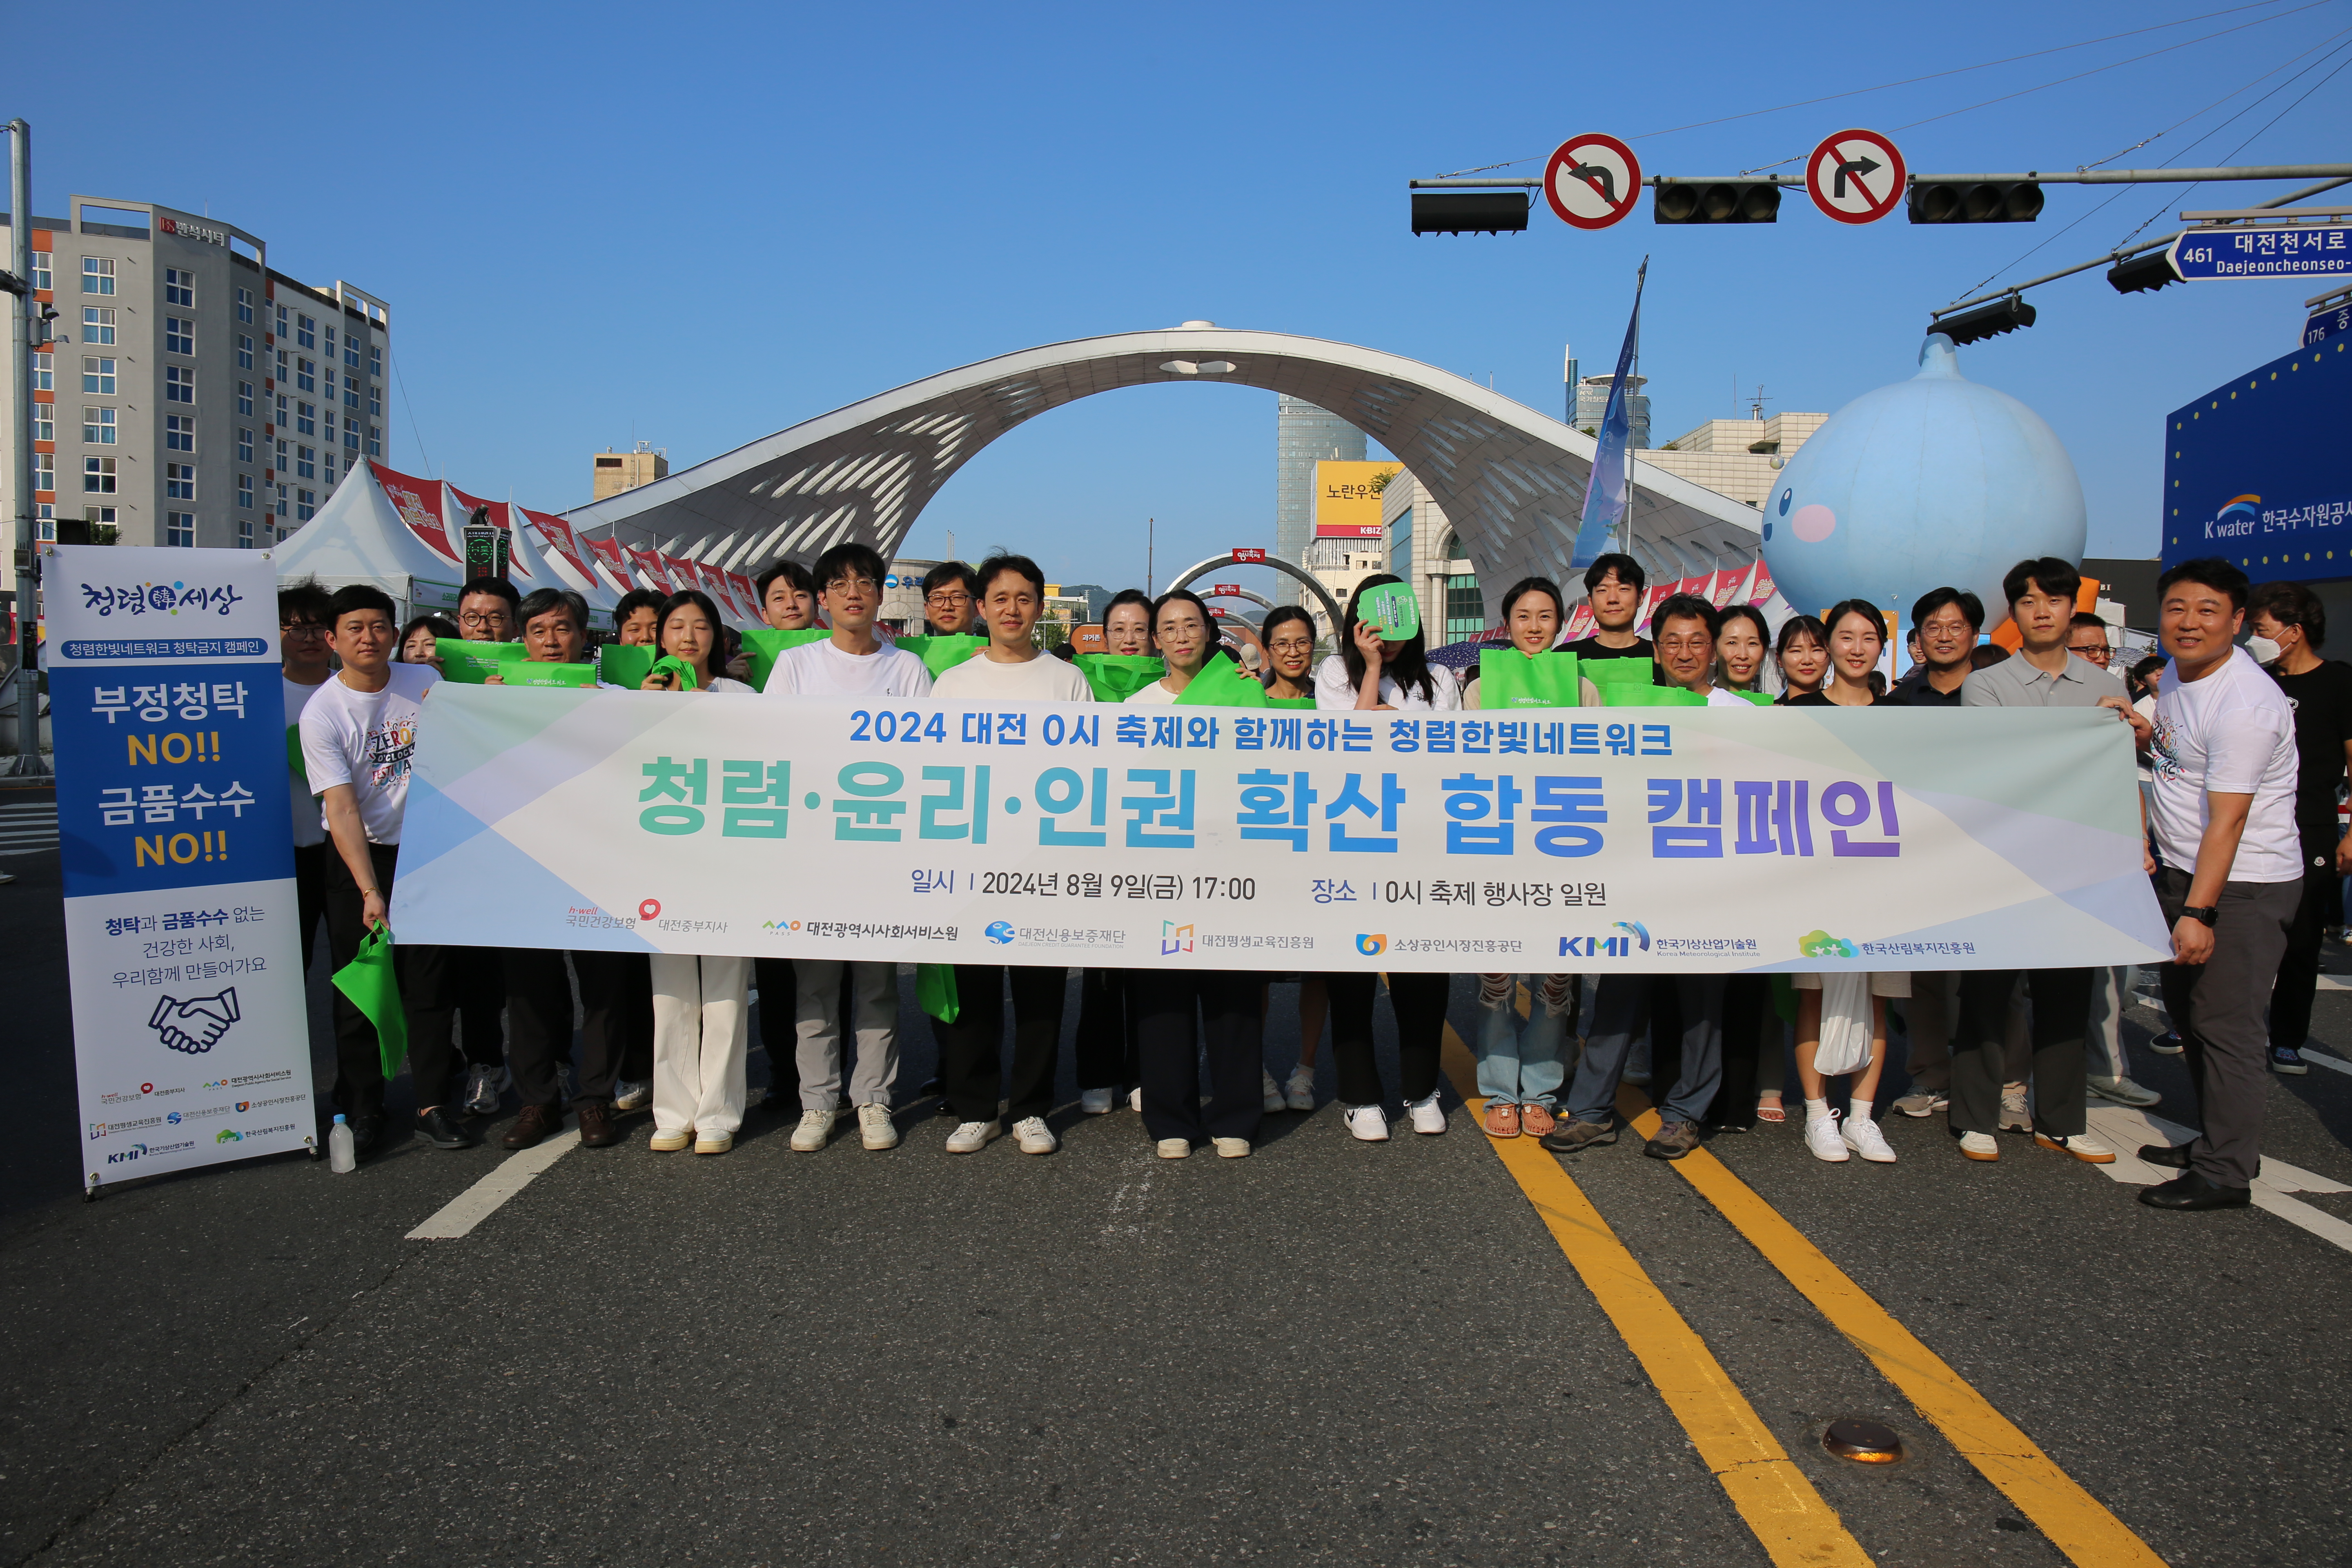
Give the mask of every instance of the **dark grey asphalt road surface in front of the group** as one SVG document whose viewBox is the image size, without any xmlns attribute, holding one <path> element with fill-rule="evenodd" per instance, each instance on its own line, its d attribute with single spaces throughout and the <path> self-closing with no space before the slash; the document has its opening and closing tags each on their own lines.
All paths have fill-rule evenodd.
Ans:
<svg viewBox="0 0 2352 1568">
<path fill-rule="evenodd" d="M 1458 1107 L 1355 1145 L 1327 1060 L 1254 1159 L 1181 1164 L 1075 1105 L 1051 1159 L 950 1159 L 929 1103 L 887 1154 L 753 1110 L 722 1159 L 654 1157 L 640 1114 L 454 1241 L 402 1237 L 494 1147 L 82 1204 L 56 863 L 5 870 L 0 1563 L 1771 1561 Z M 2345 997 L 2319 1039 L 2352 1053 Z M 2187 1117 L 2178 1058 L 2133 1067 Z M 2272 1084 L 2272 1157 L 2352 1182 L 2345 1133 L 2352 1077 Z M 2352 1253 L 2023 1138 L 1891 1138 L 1710 1147 L 2164 1561 L 2352 1561 Z M 2067 1561 L 1682 1173 L 1632 1140 L 1569 1173 L 1872 1561 Z M 1842 1415 L 1912 1458 L 1828 1458 Z"/>
</svg>

